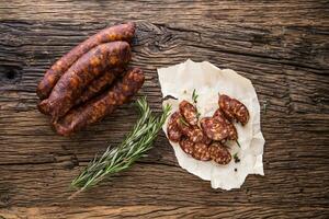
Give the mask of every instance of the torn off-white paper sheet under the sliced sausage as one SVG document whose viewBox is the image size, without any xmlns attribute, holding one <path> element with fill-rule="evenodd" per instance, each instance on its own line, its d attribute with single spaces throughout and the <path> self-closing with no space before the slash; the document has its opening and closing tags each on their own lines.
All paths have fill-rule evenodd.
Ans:
<svg viewBox="0 0 329 219">
<path fill-rule="evenodd" d="M 178 143 L 170 141 L 183 169 L 202 180 L 211 181 L 213 188 L 223 189 L 239 188 L 248 174 L 264 174 L 262 157 L 265 140 L 260 129 L 260 104 L 250 80 L 234 70 L 222 70 L 208 61 L 194 62 L 190 59 L 158 69 L 158 76 L 163 97 L 171 95 L 178 99 L 163 101 L 163 105 L 172 105 L 171 113 L 178 111 L 182 100 L 192 102 L 194 89 L 198 94 L 197 111 L 201 117 L 212 116 L 218 108 L 218 93 L 239 100 L 250 113 L 250 120 L 246 126 L 235 124 L 241 148 L 234 141 L 227 142 L 230 153 L 237 152 L 240 162 L 235 163 L 232 159 L 229 164 L 219 165 L 213 161 L 197 161 L 184 153 Z M 162 129 L 167 135 L 167 123 Z"/>
</svg>

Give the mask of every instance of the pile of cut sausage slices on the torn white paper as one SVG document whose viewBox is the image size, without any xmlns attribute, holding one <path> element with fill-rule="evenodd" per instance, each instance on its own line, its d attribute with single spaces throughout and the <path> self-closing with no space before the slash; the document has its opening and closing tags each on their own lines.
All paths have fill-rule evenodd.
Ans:
<svg viewBox="0 0 329 219">
<path fill-rule="evenodd" d="M 194 159 L 225 165 L 230 162 L 231 154 L 224 143 L 238 139 L 232 122 L 246 125 L 249 112 L 241 102 L 224 94 L 219 95 L 218 105 L 212 117 L 198 119 L 196 106 L 182 101 L 179 111 L 169 118 L 167 134 L 169 140 L 179 142 Z"/>
</svg>

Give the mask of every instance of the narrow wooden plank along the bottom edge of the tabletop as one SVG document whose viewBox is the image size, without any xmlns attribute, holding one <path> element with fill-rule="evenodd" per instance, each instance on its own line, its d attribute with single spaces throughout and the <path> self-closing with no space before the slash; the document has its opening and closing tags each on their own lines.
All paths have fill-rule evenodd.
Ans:
<svg viewBox="0 0 329 219">
<path fill-rule="evenodd" d="M 287 208 L 287 207 L 257 207 L 257 206 L 222 206 L 212 207 L 208 210 L 207 206 L 198 207 L 177 207 L 177 206 L 128 206 L 128 207 L 42 207 L 42 208 L 12 208 L 3 211 L 3 217 L 8 219 L 20 219 L 24 215 L 26 219 L 66 219 L 63 211 L 67 212 L 70 218 L 263 218 L 269 215 L 272 218 L 326 218 L 328 209 L 326 208 Z"/>
</svg>

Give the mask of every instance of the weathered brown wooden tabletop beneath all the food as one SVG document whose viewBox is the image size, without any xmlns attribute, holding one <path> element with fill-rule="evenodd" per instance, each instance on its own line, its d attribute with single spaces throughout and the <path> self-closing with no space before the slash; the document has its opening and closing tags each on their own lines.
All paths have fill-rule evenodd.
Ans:
<svg viewBox="0 0 329 219">
<path fill-rule="evenodd" d="M 286 1 L 288 2 L 288 1 Z M 328 1 L 68 1 L 0 3 L 0 218 L 328 218 Z M 36 110 L 37 82 L 70 48 L 137 22 L 140 95 L 160 112 L 156 68 L 191 58 L 249 78 L 261 102 L 265 176 L 212 189 L 182 170 L 163 132 L 149 157 L 68 200 L 88 161 L 137 118 L 125 105 L 71 138 Z"/>
</svg>

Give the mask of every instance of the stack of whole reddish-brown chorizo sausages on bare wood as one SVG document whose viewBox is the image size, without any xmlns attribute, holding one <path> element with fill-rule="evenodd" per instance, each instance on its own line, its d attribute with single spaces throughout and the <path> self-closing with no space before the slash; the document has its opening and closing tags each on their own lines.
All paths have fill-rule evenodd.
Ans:
<svg viewBox="0 0 329 219">
<path fill-rule="evenodd" d="M 141 88 L 143 71 L 127 68 L 134 34 L 134 23 L 105 28 L 47 70 L 36 90 L 38 110 L 52 117 L 59 135 L 101 120 Z"/>
</svg>

